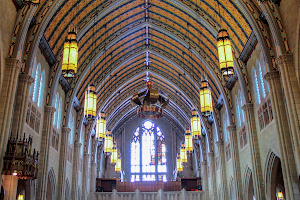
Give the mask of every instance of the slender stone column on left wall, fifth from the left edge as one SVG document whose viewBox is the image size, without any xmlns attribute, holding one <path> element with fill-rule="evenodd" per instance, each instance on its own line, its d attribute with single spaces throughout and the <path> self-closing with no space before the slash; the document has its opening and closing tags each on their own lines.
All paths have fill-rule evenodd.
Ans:
<svg viewBox="0 0 300 200">
<path fill-rule="evenodd" d="M 72 174 L 72 199 L 78 199 L 78 174 L 80 165 L 80 142 L 74 143 L 74 156 L 73 156 L 73 174 Z"/>
</svg>

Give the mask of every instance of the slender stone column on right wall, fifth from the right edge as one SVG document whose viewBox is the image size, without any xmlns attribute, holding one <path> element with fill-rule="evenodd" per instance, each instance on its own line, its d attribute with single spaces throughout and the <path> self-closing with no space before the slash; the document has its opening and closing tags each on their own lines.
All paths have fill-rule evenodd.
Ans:
<svg viewBox="0 0 300 200">
<path fill-rule="evenodd" d="M 217 141 L 219 150 L 219 165 L 220 165 L 220 178 L 221 178 L 221 189 L 222 189 L 222 199 L 227 199 L 227 177 L 226 177 L 226 161 L 224 152 L 224 141 Z"/>
</svg>

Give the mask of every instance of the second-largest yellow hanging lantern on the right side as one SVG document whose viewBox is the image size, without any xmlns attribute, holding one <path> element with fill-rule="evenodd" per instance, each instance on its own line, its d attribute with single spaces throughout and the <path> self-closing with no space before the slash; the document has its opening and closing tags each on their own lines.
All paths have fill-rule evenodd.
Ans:
<svg viewBox="0 0 300 200">
<path fill-rule="evenodd" d="M 212 107 L 211 91 L 210 91 L 210 88 L 208 87 L 207 80 L 204 80 L 201 82 L 200 106 L 201 106 L 202 115 L 209 116 L 212 114 L 213 107 Z"/>
</svg>

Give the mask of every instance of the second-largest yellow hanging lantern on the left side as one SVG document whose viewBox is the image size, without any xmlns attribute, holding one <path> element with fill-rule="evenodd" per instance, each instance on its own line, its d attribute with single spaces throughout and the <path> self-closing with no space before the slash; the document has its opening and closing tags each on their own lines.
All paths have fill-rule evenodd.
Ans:
<svg viewBox="0 0 300 200">
<path fill-rule="evenodd" d="M 96 117 L 97 95 L 95 86 L 89 85 L 85 92 L 84 115 L 88 120 L 93 120 Z"/>
</svg>

